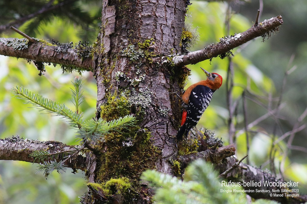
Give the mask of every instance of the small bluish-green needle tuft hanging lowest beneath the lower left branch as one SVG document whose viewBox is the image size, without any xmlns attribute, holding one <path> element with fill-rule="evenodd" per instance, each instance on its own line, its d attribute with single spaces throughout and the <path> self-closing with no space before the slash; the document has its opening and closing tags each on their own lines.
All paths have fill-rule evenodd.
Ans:
<svg viewBox="0 0 307 204">
<path fill-rule="evenodd" d="M 67 165 L 64 164 L 64 161 L 44 161 L 44 163 L 39 163 L 36 173 L 44 172 L 45 177 L 47 177 L 51 172 L 56 170 L 58 173 L 66 172 Z"/>
</svg>

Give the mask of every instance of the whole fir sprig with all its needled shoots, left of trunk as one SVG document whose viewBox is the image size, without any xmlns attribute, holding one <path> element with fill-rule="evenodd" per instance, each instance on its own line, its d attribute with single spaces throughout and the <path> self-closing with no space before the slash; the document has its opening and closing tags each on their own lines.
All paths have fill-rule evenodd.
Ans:
<svg viewBox="0 0 307 204">
<path fill-rule="evenodd" d="M 72 111 L 65 104 L 56 103 L 48 98 L 44 98 L 42 95 L 33 93 L 24 87 L 16 86 L 14 91 L 16 94 L 21 95 L 23 98 L 27 99 L 29 103 L 32 103 L 35 107 L 40 108 L 41 110 L 46 110 L 49 113 L 56 113 L 56 115 L 62 116 L 70 122 L 70 125 L 73 127 L 79 128 L 77 131 L 76 138 L 80 141 L 80 144 L 83 144 L 81 149 L 59 151 L 51 153 L 50 150 L 35 150 L 29 156 L 34 158 L 34 162 L 38 161 L 40 163 L 37 167 L 37 172 L 44 172 L 45 177 L 47 177 L 52 171 L 56 170 L 57 172 L 65 172 L 67 165 L 64 165 L 68 159 L 75 157 L 86 147 L 87 141 L 92 140 L 95 143 L 103 140 L 103 136 L 110 133 L 110 131 L 120 132 L 122 128 L 128 129 L 129 126 L 134 126 L 136 118 L 132 115 L 126 115 L 125 117 L 120 117 L 116 120 L 105 121 L 103 119 L 87 120 L 82 119 L 82 113 L 79 113 L 79 105 L 84 101 L 82 97 L 82 83 L 81 79 L 78 77 L 75 78 L 72 82 L 75 89 L 71 88 L 72 97 L 74 99 L 73 103 L 76 106 L 76 110 Z M 60 158 L 64 158 L 66 154 L 66 159 L 64 161 L 56 161 Z"/>
</svg>

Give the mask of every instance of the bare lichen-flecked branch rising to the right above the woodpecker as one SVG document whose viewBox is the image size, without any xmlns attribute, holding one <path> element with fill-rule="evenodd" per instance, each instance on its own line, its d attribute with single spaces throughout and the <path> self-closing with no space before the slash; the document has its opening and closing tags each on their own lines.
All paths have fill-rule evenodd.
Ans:
<svg viewBox="0 0 307 204">
<path fill-rule="evenodd" d="M 278 31 L 278 26 L 282 24 L 283 21 L 280 15 L 269 20 L 264 20 L 258 25 L 253 25 L 245 32 L 235 34 L 234 36 L 220 38 L 220 42 L 215 45 L 212 44 L 207 46 L 203 50 L 190 52 L 186 55 L 175 56 L 173 57 L 173 63 L 174 65 L 181 67 L 189 64 L 196 64 L 200 61 L 211 59 L 219 55 L 221 58 L 226 57 L 230 54 L 230 50 L 250 41 L 251 39 L 258 36 L 270 37 L 270 34 Z"/>
</svg>

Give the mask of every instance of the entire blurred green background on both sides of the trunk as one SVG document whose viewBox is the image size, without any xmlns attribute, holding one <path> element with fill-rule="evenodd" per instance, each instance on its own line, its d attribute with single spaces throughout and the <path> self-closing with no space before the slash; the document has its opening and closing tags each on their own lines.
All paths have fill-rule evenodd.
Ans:
<svg viewBox="0 0 307 204">
<path fill-rule="evenodd" d="M 6 24 L 21 13 L 31 13 L 45 1 L 5 1 L 0 0 L 0 24 Z M 33 4 L 33 2 L 36 2 Z M 60 43 L 94 42 L 99 32 L 100 5 L 102 1 L 76 1 L 67 10 L 38 16 L 27 21 L 19 29 L 31 37 L 57 40 Z M 265 120 L 253 125 L 248 132 L 249 163 L 262 169 L 270 168 L 269 155 L 272 138 L 284 139 L 273 147 L 274 171 L 286 180 L 299 182 L 301 194 L 307 194 L 307 134 L 306 118 L 298 119 L 307 107 L 307 2 L 305 0 L 250 0 L 227 2 L 191 1 L 186 18 L 186 29 L 193 39 L 190 51 L 203 49 L 216 43 L 225 35 L 244 32 L 254 23 L 257 9 L 261 9 L 259 22 L 281 15 L 284 24 L 279 32 L 269 39 L 258 37 L 232 50 L 233 88 L 232 105 L 237 104 L 232 121 L 235 126 L 236 156 L 247 154 L 247 140 L 244 131 L 243 92 L 246 96 L 247 124 L 274 110 L 278 101 L 282 108 Z M 0 37 L 21 38 L 15 32 L 4 31 Z M 196 65 L 188 65 L 191 76 L 188 85 L 204 79 L 199 67 L 223 76 L 223 85 L 214 94 L 210 106 L 205 111 L 200 127 L 208 128 L 229 143 L 229 111 L 227 106 L 227 69 L 229 59 L 214 58 Z M 288 75 L 285 78 L 287 71 Z M 70 145 L 78 144 L 75 130 L 60 117 L 44 114 L 25 101 L 14 96 L 12 88 L 24 86 L 54 101 L 65 103 L 73 109 L 70 87 L 78 73 L 64 73 L 59 66 L 46 66 L 43 76 L 38 76 L 33 63 L 24 59 L 0 55 L 0 138 L 20 135 L 38 140 L 57 140 Z M 90 72 L 82 74 L 85 102 L 81 105 L 84 117 L 95 114 L 96 84 Z M 285 84 L 283 86 L 283 83 Z M 285 133 L 293 127 L 292 140 Z M 295 129 L 295 128 L 294 128 Z M 275 135 L 275 136 L 274 136 Z M 1 203 L 78 203 L 78 196 L 86 190 L 84 173 L 53 172 L 45 179 L 36 174 L 36 164 L 19 161 L 0 161 L 0 204 Z"/>
</svg>

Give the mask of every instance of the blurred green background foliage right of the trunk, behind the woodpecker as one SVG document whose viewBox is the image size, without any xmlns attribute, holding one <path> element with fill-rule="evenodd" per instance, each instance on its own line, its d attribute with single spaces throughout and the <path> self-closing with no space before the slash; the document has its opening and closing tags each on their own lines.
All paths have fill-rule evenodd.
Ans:
<svg viewBox="0 0 307 204">
<path fill-rule="evenodd" d="M 279 32 L 272 34 L 269 39 L 262 43 L 261 37 L 253 39 L 248 43 L 235 48 L 231 62 L 234 70 L 234 87 L 232 89 L 233 103 L 238 101 L 236 117 L 233 118 L 236 127 L 236 155 L 242 158 L 247 154 L 247 140 L 244 131 L 244 116 L 242 94 L 247 89 L 250 94 L 247 98 L 247 124 L 268 113 L 277 107 L 279 97 L 282 94 L 282 103 L 286 105 L 274 116 L 254 125 L 249 132 L 249 160 L 252 165 L 269 168 L 269 154 L 274 133 L 283 135 L 291 131 L 297 119 L 301 116 L 307 106 L 306 86 L 306 22 L 302 17 L 307 11 L 305 1 L 263 1 L 264 7 L 259 22 L 278 15 L 282 15 L 284 24 L 280 26 Z M 289 6 L 291 5 L 291 6 Z M 230 10 L 229 10 L 230 9 Z M 189 7 L 188 27 L 197 30 L 198 42 L 193 43 L 190 51 L 203 49 L 211 43 L 219 41 L 220 37 L 244 32 L 250 28 L 256 18 L 259 1 L 252 0 L 245 4 L 230 3 L 229 5 L 218 2 L 192 1 Z M 230 11 L 229 25 L 226 24 L 227 13 Z M 228 16 L 229 17 L 229 16 Z M 228 28 L 229 26 L 229 28 Z M 195 33 L 195 32 L 194 32 Z M 192 75 L 187 83 L 188 87 L 205 78 L 199 67 L 209 72 L 217 72 L 223 77 L 223 84 L 214 93 L 210 106 L 204 112 L 197 124 L 198 127 L 206 127 L 215 131 L 218 137 L 228 143 L 228 120 L 226 79 L 229 59 L 216 57 L 212 61 L 202 61 L 196 65 L 188 65 Z M 291 68 L 294 71 L 286 78 L 286 86 L 282 90 L 285 72 Z M 276 118 L 275 116 L 279 116 Z M 306 119 L 299 122 L 304 125 Z M 282 172 L 286 179 L 299 181 L 300 192 L 307 193 L 306 176 L 306 129 L 295 134 L 292 145 L 300 149 L 289 149 L 288 137 L 274 146 L 274 164 L 277 172 Z"/>
</svg>

